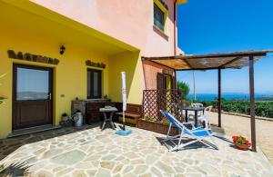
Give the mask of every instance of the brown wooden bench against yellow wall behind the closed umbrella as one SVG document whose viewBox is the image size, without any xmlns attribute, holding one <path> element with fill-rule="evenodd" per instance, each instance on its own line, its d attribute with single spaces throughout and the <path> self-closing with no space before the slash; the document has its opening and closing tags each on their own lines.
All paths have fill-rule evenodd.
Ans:
<svg viewBox="0 0 273 177">
<path fill-rule="evenodd" d="M 138 119 L 141 118 L 141 112 L 142 112 L 142 106 L 139 104 L 132 104 L 132 103 L 127 103 L 126 107 L 126 112 L 125 112 L 125 118 L 126 118 L 126 123 L 134 124 L 137 125 Z M 121 109 L 122 111 L 122 104 L 121 104 Z M 119 121 L 122 122 L 122 112 L 116 113 L 117 116 L 119 116 Z"/>
</svg>

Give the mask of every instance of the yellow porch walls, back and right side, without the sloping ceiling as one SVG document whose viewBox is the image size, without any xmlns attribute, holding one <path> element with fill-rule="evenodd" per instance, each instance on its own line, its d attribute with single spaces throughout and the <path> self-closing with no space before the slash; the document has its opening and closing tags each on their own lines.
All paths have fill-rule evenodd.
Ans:
<svg viewBox="0 0 273 177">
<path fill-rule="evenodd" d="M 54 69 L 54 124 L 60 122 L 61 114 L 70 114 L 71 101 L 76 97 L 86 99 L 87 66 L 86 59 L 106 64 L 103 70 L 103 93 L 113 102 L 121 102 L 121 75 L 126 72 L 126 89 L 128 103 L 142 102 L 143 71 L 139 52 L 124 52 L 121 54 L 105 55 L 92 52 L 90 48 L 65 44 L 66 53 L 59 54 L 59 43 L 54 39 L 43 38 L 27 33 L 15 33 L 0 30 L 0 74 L 8 73 L 0 83 L 0 96 L 5 96 L 5 104 L 0 105 L 0 138 L 12 132 L 12 78 L 13 64 L 32 64 L 52 67 Z M 22 60 L 10 59 L 7 50 L 41 54 L 57 58 L 60 63 L 39 64 Z M 90 67 L 91 68 L 91 67 Z M 95 68 L 98 69 L 98 68 Z M 61 97 L 64 94 L 65 97 Z"/>
</svg>

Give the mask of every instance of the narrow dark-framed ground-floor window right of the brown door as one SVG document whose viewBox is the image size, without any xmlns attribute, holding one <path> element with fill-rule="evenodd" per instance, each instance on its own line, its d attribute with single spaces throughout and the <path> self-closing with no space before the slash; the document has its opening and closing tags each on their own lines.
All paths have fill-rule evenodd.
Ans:
<svg viewBox="0 0 273 177">
<path fill-rule="evenodd" d="M 87 98 L 95 99 L 101 98 L 102 78 L 100 70 L 87 70 Z"/>
</svg>

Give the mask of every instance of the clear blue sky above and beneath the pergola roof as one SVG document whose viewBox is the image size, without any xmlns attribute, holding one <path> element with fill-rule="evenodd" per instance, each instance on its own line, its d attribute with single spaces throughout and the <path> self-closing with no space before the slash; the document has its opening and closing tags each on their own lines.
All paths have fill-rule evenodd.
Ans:
<svg viewBox="0 0 273 177">
<path fill-rule="evenodd" d="M 178 46 L 186 54 L 273 49 L 273 0 L 188 0 L 178 6 Z M 255 64 L 255 92 L 273 93 L 273 54 Z M 217 93 L 217 71 L 195 72 L 197 93 Z M 190 85 L 192 72 L 178 72 Z M 248 67 L 225 70 L 223 93 L 248 93 Z"/>
</svg>

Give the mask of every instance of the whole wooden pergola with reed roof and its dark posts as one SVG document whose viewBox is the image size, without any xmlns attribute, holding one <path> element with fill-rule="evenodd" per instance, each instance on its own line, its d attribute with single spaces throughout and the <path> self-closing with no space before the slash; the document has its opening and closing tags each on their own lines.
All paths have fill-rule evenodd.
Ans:
<svg viewBox="0 0 273 177">
<path fill-rule="evenodd" d="M 250 126 L 252 151 L 257 151 L 254 96 L 254 63 L 273 50 L 244 51 L 222 54 L 188 54 L 163 57 L 142 57 L 142 60 L 165 65 L 176 71 L 218 71 L 218 126 L 221 127 L 221 70 L 241 69 L 249 66 Z"/>
</svg>

